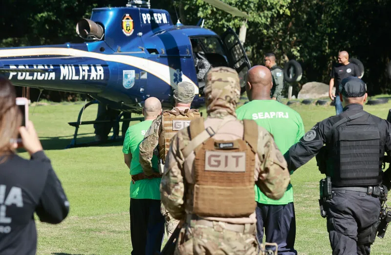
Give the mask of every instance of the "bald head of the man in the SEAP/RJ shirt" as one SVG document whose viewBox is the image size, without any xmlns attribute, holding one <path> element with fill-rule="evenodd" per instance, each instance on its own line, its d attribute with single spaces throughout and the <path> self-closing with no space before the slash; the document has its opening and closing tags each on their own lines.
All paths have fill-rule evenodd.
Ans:
<svg viewBox="0 0 391 255">
<path fill-rule="evenodd" d="M 251 67 L 246 76 L 246 92 L 250 101 L 270 100 L 270 90 L 273 86 L 272 73 L 263 65 Z"/>
</svg>

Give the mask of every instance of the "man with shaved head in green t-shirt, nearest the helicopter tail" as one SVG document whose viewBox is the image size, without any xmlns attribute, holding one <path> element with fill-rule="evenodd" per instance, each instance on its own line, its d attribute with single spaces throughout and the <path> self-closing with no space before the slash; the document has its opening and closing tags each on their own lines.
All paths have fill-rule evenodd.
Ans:
<svg viewBox="0 0 391 255">
<path fill-rule="evenodd" d="M 139 163 L 139 145 L 151 127 L 152 121 L 161 114 L 162 106 L 155 97 L 145 100 L 145 120 L 128 128 L 122 152 L 125 164 L 130 169 L 130 237 L 132 255 L 160 253 L 164 236 L 164 217 L 160 213 L 160 180 L 157 157 L 152 157 L 155 173 L 145 176 Z"/>
</svg>

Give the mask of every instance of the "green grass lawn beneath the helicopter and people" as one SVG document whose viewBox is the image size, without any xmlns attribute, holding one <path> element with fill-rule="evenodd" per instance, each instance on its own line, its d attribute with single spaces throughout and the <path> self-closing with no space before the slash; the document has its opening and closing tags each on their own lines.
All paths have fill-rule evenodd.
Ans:
<svg viewBox="0 0 391 255">
<path fill-rule="evenodd" d="M 130 254 L 129 169 L 123 162 L 122 144 L 64 149 L 70 143 L 82 105 L 37 106 L 33 120 L 46 154 L 52 160 L 70 202 L 70 213 L 59 225 L 37 221 L 38 254 Z M 333 106 L 296 105 L 305 130 L 333 115 Z M 391 102 L 365 109 L 386 118 Z M 87 108 L 83 120 L 94 120 L 97 105 Z M 30 108 L 30 112 L 33 107 Z M 204 115 L 205 116 L 205 115 Z M 82 126 L 80 142 L 93 141 L 92 125 Z M 26 153 L 21 153 L 27 157 Z M 296 209 L 296 249 L 300 255 L 331 254 L 326 219 L 319 213 L 319 180 L 315 159 L 292 175 Z M 391 227 L 390 227 L 391 228 Z M 391 229 L 376 238 L 371 255 L 391 254 Z"/>
</svg>

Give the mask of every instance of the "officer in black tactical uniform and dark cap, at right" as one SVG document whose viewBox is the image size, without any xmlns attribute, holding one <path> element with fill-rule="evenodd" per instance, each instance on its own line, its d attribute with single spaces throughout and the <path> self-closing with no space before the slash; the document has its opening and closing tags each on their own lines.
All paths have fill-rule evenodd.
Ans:
<svg viewBox="0 0 391 255">
<path fill-rule="evenodd" d="M 387 196 L 385 185 L 390 186 L 391 170 L 383 172 L 382 163 L 384 153 L 391 152 L 391 124 L 363 110 L 367 96 L 361 79 L 342 80 L 343 112 L 317 123 L 284 155 L 290 171 L 318 153 L 318 166 L 321 160 L 326 163 L 320 167 L 329 185 L 322 216 L 327 216 L 333 255 L 369 255 L 379 225 L 380 199 Z"/>
</svg>

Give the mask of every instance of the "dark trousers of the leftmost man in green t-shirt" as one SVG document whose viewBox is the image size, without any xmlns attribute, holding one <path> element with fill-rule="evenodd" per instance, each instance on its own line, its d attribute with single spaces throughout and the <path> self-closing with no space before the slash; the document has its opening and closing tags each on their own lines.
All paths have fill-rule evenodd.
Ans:
<svg viewBox="0 0 391 255">
<path fill-rule="evenodd" d="M 160 254 L 164 237 L 164 217 L 160 200 L 130 198 L 131 255 Z"/>
</svg>

